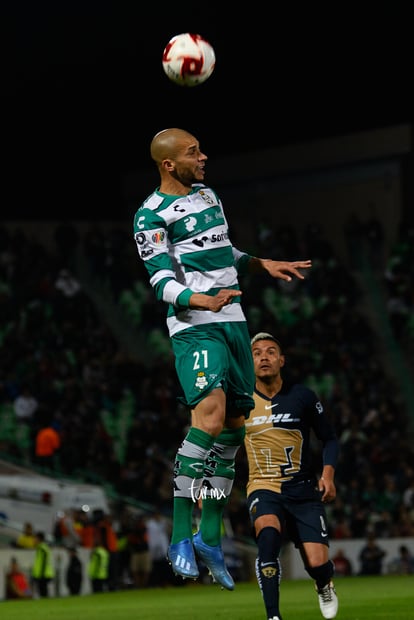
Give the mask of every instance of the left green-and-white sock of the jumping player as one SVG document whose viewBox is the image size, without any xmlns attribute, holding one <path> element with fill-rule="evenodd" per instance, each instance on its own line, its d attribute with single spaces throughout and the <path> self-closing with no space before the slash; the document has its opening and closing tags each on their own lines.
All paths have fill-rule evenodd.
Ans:
<svg viewBox="0 0 414 620">
<path fill-rule="evenodd" d="M 214 437 L 190 428 L 181 444 L 174 465 L 173 529 L 171 543 L 193 535 L 193 510 L 203 481 L 204 461 Z"/>
</svg>

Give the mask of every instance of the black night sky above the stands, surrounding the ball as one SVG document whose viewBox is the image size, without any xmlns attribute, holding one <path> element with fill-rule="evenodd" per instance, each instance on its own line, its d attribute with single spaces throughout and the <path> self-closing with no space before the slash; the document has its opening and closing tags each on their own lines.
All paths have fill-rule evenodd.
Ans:
<svg viewBox="0 0 414 620">
<path fill-rule="evenodd" d="M 116 217 L 122 176 L 152 165 L 149 142 L 167 126 L 189 129 L 216 158 L 412 122 L 412 20 L 405 3 L 387 5 L 372 14 L 349 3 L 3 7 L 3 218 L 97 207 Z M 161 67 L 168 40 L 186 31 L 217 57 L 192 89 Z"/>
</svg>

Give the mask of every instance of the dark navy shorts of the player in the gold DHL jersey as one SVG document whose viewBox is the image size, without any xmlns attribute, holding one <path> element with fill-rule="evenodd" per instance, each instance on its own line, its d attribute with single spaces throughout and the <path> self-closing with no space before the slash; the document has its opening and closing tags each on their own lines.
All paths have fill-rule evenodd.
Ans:
<svg viewBox="0 0 414 620">
<path fill-rule="evenodd" d="M 247 507 L 252 523 L 257 517 L 276 515 L 282 526 L 282 535 L 291 540 L 295 547 L 300 547 L 304 542 L 316 542 L 329 547 L 328 525 L 321 495 L 314 486 L 308 486 L 302 498 L 258 490 L 247 498 Z"/>
</svg>

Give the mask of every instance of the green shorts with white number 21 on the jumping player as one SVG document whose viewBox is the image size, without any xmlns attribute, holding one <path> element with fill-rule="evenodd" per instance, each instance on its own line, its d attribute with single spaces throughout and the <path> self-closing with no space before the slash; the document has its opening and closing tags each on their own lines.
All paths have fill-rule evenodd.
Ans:
<svg viewBox="0 0 414 620">
<path fill-rule="evenodd" d="M 227 415 L 249 417 L 255 377 L 247 323 L 197 325 L 175 334 L 171 344 L 186 405 L 193 409 L 221 387 Z"/>
</svg>

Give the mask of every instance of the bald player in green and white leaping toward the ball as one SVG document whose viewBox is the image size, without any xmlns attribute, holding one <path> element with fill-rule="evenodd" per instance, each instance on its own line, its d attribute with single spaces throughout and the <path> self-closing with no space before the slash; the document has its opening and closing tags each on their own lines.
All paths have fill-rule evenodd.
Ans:
<svg viewBox="0 0 414 620">
<path fill-rule="evenodd" d="M 303 279 L 310 260 L 250 256 L 230 240 L 223 205 L 204 184 L 207 155 L 183 129 L 165 129 L 151 142 L 160 185 L 137 210 L 134 236 L 167 327 L 177 375 L 191 410 L 191 427 L 178 448 L 173 474 L 173 571 L 197 579 L 196 556 L 213 579 L 233 590 L 221 548 L 221 525 L 243 444 L 245 418 L 254 408 L 250 337 L 241 306 L 239 274 Z M 192 515 L 202 498 L 199 531 Z"/>
</svg>

